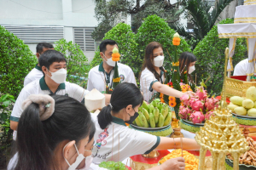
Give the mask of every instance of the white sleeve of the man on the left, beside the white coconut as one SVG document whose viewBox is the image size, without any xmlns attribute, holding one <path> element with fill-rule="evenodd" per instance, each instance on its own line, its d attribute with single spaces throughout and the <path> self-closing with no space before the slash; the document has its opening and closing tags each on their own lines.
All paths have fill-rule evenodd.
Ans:
<svg viewBox="0 0 256 170">
<path fill-rule="evenodd" d="M 68 92 L 68 96 L 72 97 L 73 99 L 79 100 L 79 102 L 81 102 L 84 99 L 84 96 L 90 92 L 80 87 L 79 85 L 71 82 L 70 82 L 70 86 L 71 86 L 71 91 Z"/>
</svg>

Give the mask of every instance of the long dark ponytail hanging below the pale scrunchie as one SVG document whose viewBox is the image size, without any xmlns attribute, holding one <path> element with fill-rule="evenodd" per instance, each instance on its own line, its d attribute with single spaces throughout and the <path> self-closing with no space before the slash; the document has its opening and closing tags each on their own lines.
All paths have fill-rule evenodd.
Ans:
<svg viewBox="0 0 256 170">
<path fill-rule="evenodd" d="M 50 169 L 52 157 L 43 123 L 39 118 L 39 106 L 32 103 L 20 116 L 17 128 L 18 162 L 15 170 Z M 28 161 L 29 160 L 29 161 Z M 32 163 L 28 163 L 32 162 Z"/>
</svg>

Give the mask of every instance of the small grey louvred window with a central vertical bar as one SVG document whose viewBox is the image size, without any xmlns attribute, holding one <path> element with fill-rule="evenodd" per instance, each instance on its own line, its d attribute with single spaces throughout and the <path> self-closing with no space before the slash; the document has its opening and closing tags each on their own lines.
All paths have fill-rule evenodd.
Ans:
<svg viewBox="0 0 256 170">
<path fill-rule="evenodd" d="M 74 42 L 78 43 L 83 51 L 95 51 L 95 42 L 91 37 L 94 28 L 74 28 Z"/>
</svg>

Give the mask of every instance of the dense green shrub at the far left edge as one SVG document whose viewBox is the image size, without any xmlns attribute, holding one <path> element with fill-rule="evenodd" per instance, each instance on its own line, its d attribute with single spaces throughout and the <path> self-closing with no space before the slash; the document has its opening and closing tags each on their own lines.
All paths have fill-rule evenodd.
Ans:
<svg viewBox="0 0 256 170">
<path fill-rule="evenodd" d="M 0 92 L 16 98 L 23 88 L 24 78 L 36 64 L 37 58 L 28 46 L 0 26 Z"/>
</svg>

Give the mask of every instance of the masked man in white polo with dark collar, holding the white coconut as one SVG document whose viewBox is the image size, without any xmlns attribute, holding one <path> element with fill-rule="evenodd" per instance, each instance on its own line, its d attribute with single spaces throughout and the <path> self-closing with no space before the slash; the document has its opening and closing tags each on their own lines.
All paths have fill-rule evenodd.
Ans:
<svg viewBox="0 0 256 170">
<path fill-rule="evenodd" d="M 67 60 L 58 51 L 49 49 L 39 57 L 39 65 L 44 72 L 44 77 L 39 80 L 33 81 L 22 88 L 18 99 L 15 102 L 14 109 L 10 116 L 10 127 L 15 130 L 14 139 L 16 136 L 16 129 L 22 113 L 22 102 L 30 94 L 58 94 L 72 97 L 73 99 L 81 102 L 84 95 L 89 91 L 79 87 L 79 85 L 66 82 L 67 77 Z M 108 103 L 108 95 L 106 95 L 106 102 Z"/>
</svg>

